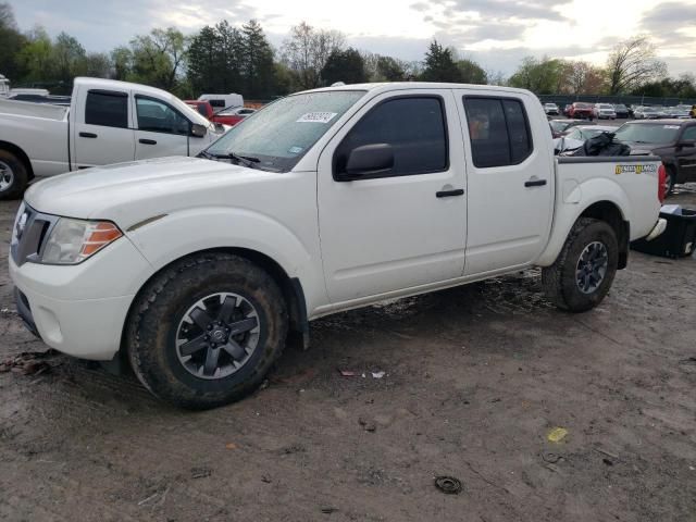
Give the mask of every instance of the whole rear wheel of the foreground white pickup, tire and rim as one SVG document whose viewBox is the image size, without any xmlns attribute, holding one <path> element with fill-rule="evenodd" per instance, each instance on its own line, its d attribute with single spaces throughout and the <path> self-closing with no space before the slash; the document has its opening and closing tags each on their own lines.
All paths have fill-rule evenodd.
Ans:
<svg viewBox="0 0 696 522">
<path fill-rule="evenodd" d="M 619 243 L 611 226 L 579 219 L 556 262 L 542 271 L 546 296 L 561 310 L 584 312 L 605 298 L 619 263 Z"/>
</svg>

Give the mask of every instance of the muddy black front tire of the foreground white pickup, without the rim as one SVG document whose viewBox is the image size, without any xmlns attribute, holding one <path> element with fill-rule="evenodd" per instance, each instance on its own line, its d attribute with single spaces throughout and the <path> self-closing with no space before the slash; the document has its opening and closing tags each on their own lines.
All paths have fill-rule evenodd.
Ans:
<svg viewBox="0 0 696 522">
<path fill-rule="evenodd" d="M 189 373 L 176 353 L 176 331 L 187 307 L 206 295 L 232 291 L 259 314 L 259 341 L 238 371 L 216 380 Z M 125 349 L 139 381 L 157 397 L 187 409 L 215 408 L 254 390 L 281 357 L 287 310 L 275 281 L 251 261 L 227 253 L 185 258 L 158 274 L 136 298 Z"/>
</svg>

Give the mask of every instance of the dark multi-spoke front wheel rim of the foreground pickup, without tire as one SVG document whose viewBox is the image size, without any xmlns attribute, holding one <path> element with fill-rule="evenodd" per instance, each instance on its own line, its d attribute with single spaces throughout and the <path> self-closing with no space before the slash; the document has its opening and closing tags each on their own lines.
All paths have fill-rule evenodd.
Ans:
<svg viewBox="0 0 696 522">
<path fill-rule="evenodd" d="M 190 307 L 176 328 L 176 355 L 199 378 L 223 378 L 237 372 L 259 344 L 259 313 L 244 297 L 212 294 Z"/>
</svg>

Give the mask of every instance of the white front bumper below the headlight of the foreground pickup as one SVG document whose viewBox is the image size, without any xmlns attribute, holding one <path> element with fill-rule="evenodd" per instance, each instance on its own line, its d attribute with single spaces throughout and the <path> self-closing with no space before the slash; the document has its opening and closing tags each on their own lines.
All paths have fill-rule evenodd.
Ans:
<svg viewBox="0 0 696 522">
<path fill-rule="evenodd" d="M 130 303 L 150 274 L 126 238 L 76 265 L 17 265 L 10 256 L 17 312 L 27 328 L 51 348 L 97 361 L 119 351 Z"/>
</svg>

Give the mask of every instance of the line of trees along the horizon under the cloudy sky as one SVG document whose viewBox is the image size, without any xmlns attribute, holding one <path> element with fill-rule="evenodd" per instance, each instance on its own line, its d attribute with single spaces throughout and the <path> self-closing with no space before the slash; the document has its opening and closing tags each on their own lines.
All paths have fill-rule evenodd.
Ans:
<svg viewBox="0 0 696 522">
<path fill-rule="evenodd" d="M 192 35 L 156 28 L 111 52 L 88 52 L 66 33 L 55 38 L 41 27 L 23 33 L 9 3 L 0 3 L 0 73 L 15 86 L 45 86 L 53 94 L 69 94 L 73 78 L 82 75 L 137 82 L 182 98 L 238 92 L 268 100 L 336 82 L 402 80 L 509 85 L 537 95 L 696 97 L 694 75 L 668 77 L 645 36 L 619 42 L 604 67 L 527 57 L 506 78 L 436 40 L 423 61 L 409 62 L 355 49 L 341 33 L 304 22 L 293 27 L 277 49 L 251 20 L 239 27 L 222 21 Z"/>
</svg>

